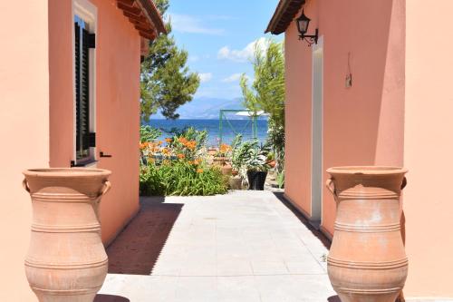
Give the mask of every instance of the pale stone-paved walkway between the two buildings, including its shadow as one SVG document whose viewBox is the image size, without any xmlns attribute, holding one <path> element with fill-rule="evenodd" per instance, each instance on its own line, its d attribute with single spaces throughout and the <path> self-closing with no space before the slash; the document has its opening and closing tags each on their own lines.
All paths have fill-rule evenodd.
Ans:
<svg viewBox="0 0 453 302">
<path fill-rule="evenodd" d="M 339 301 L 321 239 L 269 191 L 144 199 L 95 301 Z"/>
</svg>

